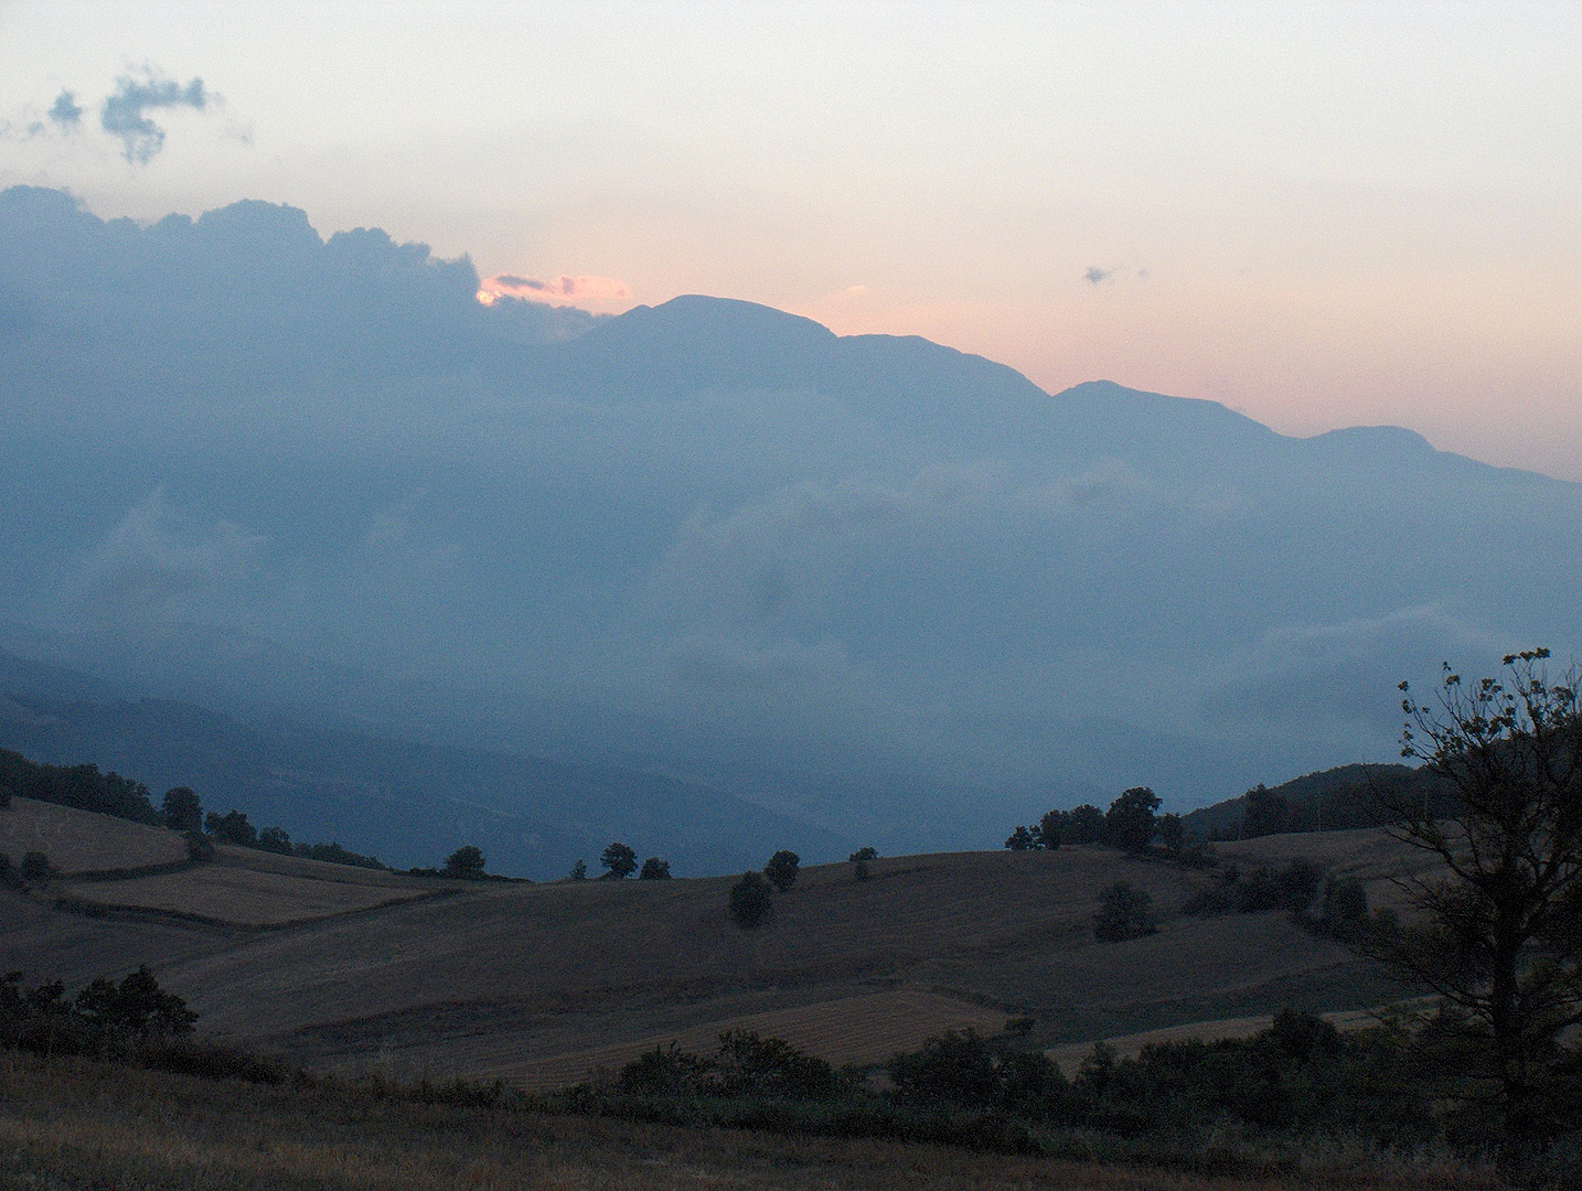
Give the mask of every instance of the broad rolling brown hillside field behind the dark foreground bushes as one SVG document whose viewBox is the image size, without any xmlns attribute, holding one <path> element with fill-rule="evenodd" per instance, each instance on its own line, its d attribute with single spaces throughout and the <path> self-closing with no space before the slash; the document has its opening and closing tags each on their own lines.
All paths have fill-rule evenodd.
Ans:
<svg viewBox="0 0 1582 1191">
<path fill-rule="evenodd" d="M 101 822 L 120 827 L 82 819 L 84 841 Z M 1392 848 L 1343 832 L 1221 851 L 1243 867 L 1304 854 L 1376 881 Z M 1156 935 L 1093 940 L 1098 890 L 1115 879 L 1153 897 Z M 732 878 L 468 884 L 220 849 L 176 873 L 62 883 L 141 914 L 95 919 L 0 894 L 0 970 L 81 982 L 147 962 L 206 1033 L 315 1069 L 532 1087 L 672 1039 L 712 1052 L 732 1027 L 875 1063 L 1008 1015 L 1036 1020 L 1035 1045 L 1085 1049 L 1402 995 L 1281 914 L 1182 914 L 1210 879 L 1099 848 L 888 857 L 861 883 L 850 865 L 804 870 L 775 895 L 774 921 L 744 932 L 726 914 Z"/>
</svg>

